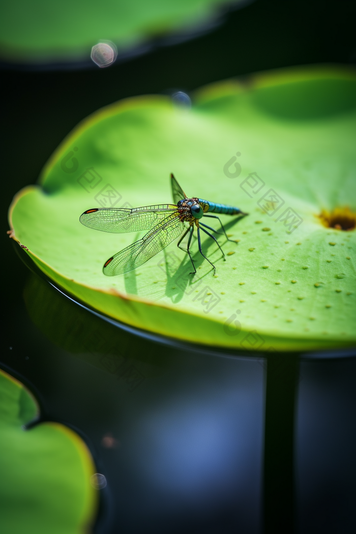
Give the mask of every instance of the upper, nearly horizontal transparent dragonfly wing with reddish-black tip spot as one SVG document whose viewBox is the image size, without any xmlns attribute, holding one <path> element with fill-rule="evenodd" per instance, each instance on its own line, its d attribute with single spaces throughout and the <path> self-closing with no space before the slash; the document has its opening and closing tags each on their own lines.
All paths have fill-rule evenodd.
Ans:
<svg viewBox="0 0 356 534">
<path fill-rule="evenodd" d="M 92 208 L 84 211 L 79 220 L 84 226 L 110 233 L 151 230 L 169 213 L 177 211 L 174 204 L 157 204 L 142 208 Z"/>
</svg>

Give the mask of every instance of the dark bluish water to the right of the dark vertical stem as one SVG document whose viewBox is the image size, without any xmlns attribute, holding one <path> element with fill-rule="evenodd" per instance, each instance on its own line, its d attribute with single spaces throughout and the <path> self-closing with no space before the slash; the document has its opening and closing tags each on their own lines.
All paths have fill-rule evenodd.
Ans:
<svg viewBox="0 0 356 534">
<path fill-rule="evenodd" d="M 300 371 L 299 532 L 351 534 L 356 530 L 356 358 L 303 362 Z"/>
</svg>

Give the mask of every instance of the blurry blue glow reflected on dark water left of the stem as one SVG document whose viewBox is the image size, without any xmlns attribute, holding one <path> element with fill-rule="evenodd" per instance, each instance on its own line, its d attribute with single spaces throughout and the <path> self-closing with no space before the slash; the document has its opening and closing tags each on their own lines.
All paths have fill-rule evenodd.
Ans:
<svg viewBox="0 0 356 534">
<path fill-rule="evenodd" d="M 225 375 L 209 386 L 176 390 L 136 422 L 136 469 L 175 508 L 183 502 L 219 508 L 235 501 L 236 493 L 241 499 L 254 492 L 262 425 L 252 425 L 251 418 L 262 423 L 262 389 L 256 390 L 251 376 L 236 387 L 236 378 Z"/>
</svg>

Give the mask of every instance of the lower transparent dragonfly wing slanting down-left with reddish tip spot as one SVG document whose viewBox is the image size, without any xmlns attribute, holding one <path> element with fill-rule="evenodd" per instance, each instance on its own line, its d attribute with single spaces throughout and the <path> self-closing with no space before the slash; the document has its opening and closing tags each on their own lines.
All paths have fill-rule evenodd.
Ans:
<svg viewBox="0 0 356 534">
<path fill-rule="evenodd" d="M 169 245 L 185 230 L 184 223 L 173 213 L 150 230 L 142 239 L 109 258 L 102 269 L 107 276 L 132 271 Z"/>
</svg>

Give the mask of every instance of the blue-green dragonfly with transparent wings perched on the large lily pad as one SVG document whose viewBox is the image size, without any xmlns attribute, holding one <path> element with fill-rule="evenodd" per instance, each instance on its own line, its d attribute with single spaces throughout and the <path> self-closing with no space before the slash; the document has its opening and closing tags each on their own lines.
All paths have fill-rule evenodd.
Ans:
<svg viewBox="0 0 356 534">
<path fill-rule="evenodd" d="M 142 239 L 120 250 L 120 252 L 105 262 L 102 272 L 106 276 L 116 276 L 117 274 L 123 274 L 136 269 L 161 252 L 161 250 L 179 236 L 181 237 L 177 246 L 188 253 L 194 269 L 194 272 L 190 274 L 195 274 L 196 269 L 190 250 L 195 228 L 197 230 L 199 252 L 212 265 L 214 274 L 216 272 L 215 265 L 211 263 L 202 250 L 201 231 L 208 234 L 216 242 L 225 260 L 223 249 L 220 247 L 216 237 L 209 230 L 219 235 L 223 234 L 211 226 L 204 224 L 202 218 L 218 219 L 226 239 L 233 241 L 227 237 L 220 218 L 217 215 L 208 214 L 242 216 L 248 214 L 233 206 L 218 204 L 197 197 L 189 198 L 183 189 L 181 189 L 173 174 L 170 175 L 170 178 L 175 204 L 159 204 L 140 208 L 92 208 L 84 211 L 80 216 L 79 220 L 84 226 L 88 226 L 93 230 L 100 230 L 101 232 L 125 233 L 148 230 Z M 187 249 L 183 249 L 180 244 L 187 234 L 189 234 Z"/>
</svg>

